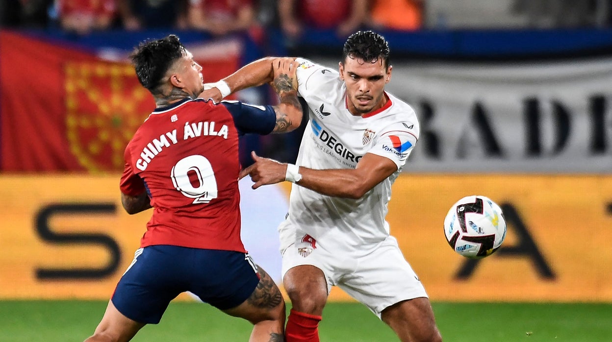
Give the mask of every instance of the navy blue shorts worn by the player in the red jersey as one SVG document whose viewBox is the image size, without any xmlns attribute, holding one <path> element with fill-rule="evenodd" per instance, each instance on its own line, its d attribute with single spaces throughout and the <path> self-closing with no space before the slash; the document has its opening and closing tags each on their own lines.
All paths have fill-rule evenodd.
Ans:
<svg viewBox="0 0 612 342">
<path fill-rule="evenodd" d="M 244 302 L 258 283 L 245 253 L 155 245 L 136 251 L 111 300 L 128 318 L 157 324 L 181 292 L 227 310 Z"/>
</svg>

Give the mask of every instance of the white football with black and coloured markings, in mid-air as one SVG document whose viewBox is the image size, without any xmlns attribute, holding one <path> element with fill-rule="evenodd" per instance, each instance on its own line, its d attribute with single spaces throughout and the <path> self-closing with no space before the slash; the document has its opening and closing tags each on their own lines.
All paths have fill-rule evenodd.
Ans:
<svg viewBox="0 0 612 342">
<path fill-rule="evenodd" d="M 480 259 L 498 250 L 506 238 L 501 208 L 485 196 L 466 196 L 450 207 L 444 218 L 450 247 L 466 258 Z"/>
</svg>

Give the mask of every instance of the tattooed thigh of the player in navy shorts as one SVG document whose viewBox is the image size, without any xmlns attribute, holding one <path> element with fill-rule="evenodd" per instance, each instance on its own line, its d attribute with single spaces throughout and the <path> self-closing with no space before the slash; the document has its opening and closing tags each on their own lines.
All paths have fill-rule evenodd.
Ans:
<svg viewBox="0 0 612 342">
<path fill-rule="evenodd" d="M 285 322 L 285 300 L 267 272 L 257 267 L 259 283 L 253 292 L 237 307 L 222 310 L 226 314 L 247 319 L 256 324 L 261 321 Z"/>
</svg>

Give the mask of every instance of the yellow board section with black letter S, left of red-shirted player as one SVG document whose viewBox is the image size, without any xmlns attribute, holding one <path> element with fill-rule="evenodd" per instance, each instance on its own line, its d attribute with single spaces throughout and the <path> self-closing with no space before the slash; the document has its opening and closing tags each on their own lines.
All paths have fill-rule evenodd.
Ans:
<svg viewBox="0 0 612 342">
<path fill-rule="evenodd" d="M 110 298 L 150 215 L 125 214 L 118 182 L 1 176 L 0 298 Z"/>
</svg>

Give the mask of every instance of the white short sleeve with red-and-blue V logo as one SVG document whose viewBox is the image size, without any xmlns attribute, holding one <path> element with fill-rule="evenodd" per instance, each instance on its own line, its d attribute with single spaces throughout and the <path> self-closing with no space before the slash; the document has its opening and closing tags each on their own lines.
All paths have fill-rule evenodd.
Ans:
<svg viewBox="0 0 612 342">
<path fill-rule="evenodd" d="M 368 153 L 387 157 L 395 162 L 398 169 L 401 169 L 418 140 L 418 133 L 406 126 L 410 127 L 401 123 L 387 127 L 387 130 L 378 136 Z"/>
</svg>

